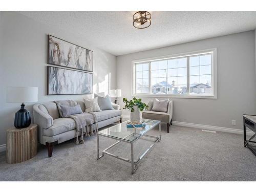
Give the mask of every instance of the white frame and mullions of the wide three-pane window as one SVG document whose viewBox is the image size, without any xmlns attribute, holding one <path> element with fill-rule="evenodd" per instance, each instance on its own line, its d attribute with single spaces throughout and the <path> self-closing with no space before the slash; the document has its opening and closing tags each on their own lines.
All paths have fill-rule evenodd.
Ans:
<svg viewBox="0 0 256 192">
<path fill-rule="evenodd" d="M 173 59 L 178 57 L 187 57 L 193 55 L 204 55 L 207 53 L 212 53 L 212 66 L 211 66 L 211 82 L 212 82 L 212 93 L 211 95 L 189 95 L 189 89 L 187 90 L 187 94 L 179 95 L 179 94 L 152 94 L 152 87 L 151 87 L 151 65 L 150 73 L 149 73 L 149 92 L 150 94 L 135 94 L 135 81 L 136 81 L 136 73 L 135 73 L 135 63 L 145 63 L 155 60 L 164 60 L 164 59 Z M 189 60 L 189 57 L 187 57 Z M 168 97 L 168 98 L 201 98 L 201 99 L 217 99 L 217 48 L 213 49 L 206 49 L 200 51 L 193 51 L 181 54 L 173 54 L 173 55 L 166 55 L 161 57 L 153 57 L 153 58 L 145 58 L 145 59 L 138 59 L 132 60 L 132 96 L 133 97 Z M 187 62 L 187 88 L 189 88 L 189 61 Z"/>
</svg>

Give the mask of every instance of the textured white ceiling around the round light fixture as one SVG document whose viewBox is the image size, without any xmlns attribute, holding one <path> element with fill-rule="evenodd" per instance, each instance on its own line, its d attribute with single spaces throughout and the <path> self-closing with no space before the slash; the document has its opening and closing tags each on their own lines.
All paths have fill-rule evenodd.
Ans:
<svg viewBox="0 0 256 192">
<path fill-rule="evenodd" d="M 133 27 L 136 11 L 20 12 L 88 41 L 113 55 L 256 29 L 256 11 L 150 11 L 152 25 Z"/>
</svg>

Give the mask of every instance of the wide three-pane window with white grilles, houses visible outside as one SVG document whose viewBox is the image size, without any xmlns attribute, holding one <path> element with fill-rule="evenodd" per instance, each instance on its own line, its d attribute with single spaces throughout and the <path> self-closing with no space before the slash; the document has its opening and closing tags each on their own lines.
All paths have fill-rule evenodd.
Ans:
<svg viewBox="0 0 256 192">
<path fill-rule="evenodd" d="M 134 61 L 133 95 L 217 98 L 216 49 Z"/>
</svg>

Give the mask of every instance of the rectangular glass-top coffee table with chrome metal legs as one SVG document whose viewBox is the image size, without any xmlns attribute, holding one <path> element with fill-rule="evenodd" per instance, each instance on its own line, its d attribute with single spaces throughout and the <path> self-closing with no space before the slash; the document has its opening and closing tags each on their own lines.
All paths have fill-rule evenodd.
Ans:
<svg viewBox="0 0 256 192">
<path fill-rule="evenodd" d="M 132 174 L 134 174 L 137 170 L 137 165 L 138 165 L 139 161 L 146 155 L 146 153 L 148 151 L 150 151 L 152 146 L 157 141 L 158 142 L 160 141 L 160 139 L 161 139 L 161 121 L 142 119 L 142 121 L 145 123 L 145 127 L 143 127 L 143 128 L 142 127 L 127 128 L 126 123 L 129 121 L 130 120 L 122 122 L 122 123 L 114 125 L 114 126 L 111 126 L 107 129 L 104 129 L 104 130 L 98 132 L 98 134 L 97 134 L 97 159 L 102 158 L 104 155 L 109 155 L 109 156 L 115 157 L 117 159 L 129 162 L 132 165 Z M 148 131 L 152 130 L 156 126 L 159 126 L 159 137 L 146 135 L 146 133 Z M 108 148 L 105 148 L 105 150 L 102 151 L 101 156 L 99 156 L 99 136 L 108 137 L 108 138 L 118 140 L 113 145 L 109 146 Z M 154 140 L 153 144 L 150 147 L 148 147 L 147 150 L 139 157 L 139 159 L 137 161 L 134 161 L 133 144 L 135 141 L 140 139 L 142 136 L 154 138 L 155 140 Z M 113 146 L 115 146 L 116 144 L 118 144 L 120 142 L 131 143 L 131 160 L 107 152 L 110 148 L 112 148 Z"/>
</svg>

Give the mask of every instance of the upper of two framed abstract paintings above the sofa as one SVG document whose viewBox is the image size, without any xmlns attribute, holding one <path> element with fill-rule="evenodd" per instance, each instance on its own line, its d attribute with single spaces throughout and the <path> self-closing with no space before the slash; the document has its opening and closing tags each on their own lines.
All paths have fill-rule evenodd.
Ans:
<svg viewBox="0 0 256 192">
<path fill-rule="evenodd" d="M 48 35 L 48 64 L 93 72 L 93 51 Z"/>
</svg>

